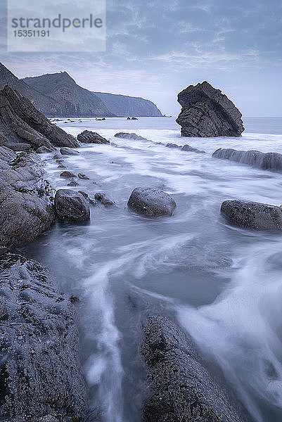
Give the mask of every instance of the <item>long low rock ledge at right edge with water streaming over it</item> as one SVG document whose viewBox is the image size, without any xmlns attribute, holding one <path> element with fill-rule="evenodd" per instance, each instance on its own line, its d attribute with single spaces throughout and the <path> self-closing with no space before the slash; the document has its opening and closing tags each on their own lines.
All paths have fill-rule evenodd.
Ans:
<svg viewBox="0 0 282 422">
<path fill-rule="evenodd" d="M 240 162 L 241 164 L 250 164 L 262 170 L 282 172 L 282 154 L 279 153 L 237 151 L 232 148 L 219 148 L 217 151 L 214 151 L 212 157 Z"/>
</svg>

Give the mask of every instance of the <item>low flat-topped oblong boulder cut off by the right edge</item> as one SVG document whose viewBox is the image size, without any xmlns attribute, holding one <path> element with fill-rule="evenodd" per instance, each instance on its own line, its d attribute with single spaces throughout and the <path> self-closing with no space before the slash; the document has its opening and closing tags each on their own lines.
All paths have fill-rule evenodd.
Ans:
<svg viewBox="0 0 282 422">
<path fill-rule="evenodd" d="M 282 230 L 282 207 L 243 200 L 224 200 L 222 215 L 243 229 Z"/>
</svg>

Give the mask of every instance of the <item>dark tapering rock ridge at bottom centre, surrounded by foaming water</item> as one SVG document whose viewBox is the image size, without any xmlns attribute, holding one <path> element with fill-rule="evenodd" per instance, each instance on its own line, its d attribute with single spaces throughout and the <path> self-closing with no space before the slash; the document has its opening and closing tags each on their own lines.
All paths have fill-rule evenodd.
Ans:
<svg viewBox="0 0 282 422">
<path fill-rule="evenodd" d="M 191 340 L 169 319 L 148 318 L 141 354 L 150 391 L 144 422 L 243 422 L 232 399 L 203 366 Z"/>
</svg>

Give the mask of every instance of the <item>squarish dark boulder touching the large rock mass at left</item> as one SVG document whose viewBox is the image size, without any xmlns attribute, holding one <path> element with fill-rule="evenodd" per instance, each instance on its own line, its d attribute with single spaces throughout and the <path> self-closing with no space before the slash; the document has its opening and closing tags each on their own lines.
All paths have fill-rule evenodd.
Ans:
<svg viewBox="0 0 282 422">
<path fill-rule="evenodd" d="M 59 219 L 82 221 L 89 219 L 89 203 L 77 191 L 59 189 L 55 196 L 55 209 Z"/>
</svg>

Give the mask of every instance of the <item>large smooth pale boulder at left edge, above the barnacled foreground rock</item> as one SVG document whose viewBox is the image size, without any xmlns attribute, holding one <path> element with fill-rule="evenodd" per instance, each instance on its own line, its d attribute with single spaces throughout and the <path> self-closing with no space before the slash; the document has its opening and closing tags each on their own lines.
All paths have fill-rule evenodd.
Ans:
<svg viewBox="0 0 282 422">
<path fill-rule="evenodd" d="M 30 153 L 0 172 L 0 245 L 33 241 L 53 224 L 52 190 L 43 177 L 41 160 Z"/>
</svg>

